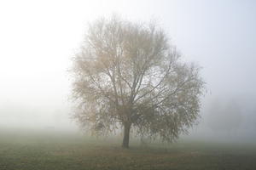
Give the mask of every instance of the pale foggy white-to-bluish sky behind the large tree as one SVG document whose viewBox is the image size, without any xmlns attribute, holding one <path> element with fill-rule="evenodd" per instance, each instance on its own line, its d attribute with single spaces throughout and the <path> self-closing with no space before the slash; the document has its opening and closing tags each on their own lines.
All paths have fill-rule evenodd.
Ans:
<svg viewBox="0 0 256 170">
<path fill-rule="evenodd" d="M 77 128 L 69 119 L 70 59 L 83 42 L 87 24 L 112 14 L 132 21 L 156 20 L 183 59 L 201 65 L 207 94 L 197 131 L 225 120 L 225 109 L 211 113 L 212 105 L 226 108 L 232 102 L 240 107 L 243 131 L 253 131 L 253 0 L 0 1 L 1 126 Z"/>
</svg>

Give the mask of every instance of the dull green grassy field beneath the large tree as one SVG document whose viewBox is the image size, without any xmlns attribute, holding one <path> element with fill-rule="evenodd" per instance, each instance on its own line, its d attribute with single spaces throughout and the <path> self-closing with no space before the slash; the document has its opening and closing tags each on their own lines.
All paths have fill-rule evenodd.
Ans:
<svg viewBox="0 0 256 170">
<path fill-rule="evenodd" d="M 136 142 L 121 149 L 118 139 L 67 133 L 0 134 L 0 170 L 256 169 L 256 147 L 248 144 Z"/>
</svg>

